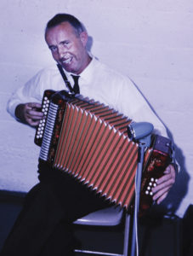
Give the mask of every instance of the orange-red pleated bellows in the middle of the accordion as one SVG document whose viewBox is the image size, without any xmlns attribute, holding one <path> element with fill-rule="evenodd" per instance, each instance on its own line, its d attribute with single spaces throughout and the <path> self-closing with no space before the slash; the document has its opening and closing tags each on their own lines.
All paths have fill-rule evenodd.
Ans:
<svg viewBox="0 0 193 256">
<path fill-rule="evenodd" d="M 54 167 L 107 200 L 128 207 L 138 158 L 138 144 L 126 134 L 130 122 L 96 102 L 66 103 Z"/>
</svg>

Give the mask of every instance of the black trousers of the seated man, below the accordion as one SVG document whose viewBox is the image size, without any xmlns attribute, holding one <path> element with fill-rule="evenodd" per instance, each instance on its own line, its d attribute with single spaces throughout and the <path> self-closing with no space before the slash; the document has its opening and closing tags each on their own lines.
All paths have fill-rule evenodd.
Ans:
<svg viewBox="0 0 193 256">
<path fill-rule="evenodd" d="M 71 255 L 71 224 L 110 203 L 69 174 L 39 165 L 39 180 L 5 241 L 1 256 Z"/>
</svg>

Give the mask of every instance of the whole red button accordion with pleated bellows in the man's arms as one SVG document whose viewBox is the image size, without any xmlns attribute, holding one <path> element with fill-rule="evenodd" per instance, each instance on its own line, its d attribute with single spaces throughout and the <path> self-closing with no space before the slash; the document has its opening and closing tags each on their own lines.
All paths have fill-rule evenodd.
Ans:
<svg viewBox="0 0 193 256">
<path fill-rule="evenodd" d="M 35 135 L 35 143 L 41 147 L 39 160 L 128 211 L 133 204 L 139 148 L 128 138 L 132 120 L 65 90 L 44 92 L 43 113 L 45 118 Z M 170 141 L 152 137 L 152 146 L 145 152 L 140 203 L 143 211 L 152 204 L 150 188 L 170 160 Z M 152 178 L 155 181 L 150 187 Z"/>
</svg>

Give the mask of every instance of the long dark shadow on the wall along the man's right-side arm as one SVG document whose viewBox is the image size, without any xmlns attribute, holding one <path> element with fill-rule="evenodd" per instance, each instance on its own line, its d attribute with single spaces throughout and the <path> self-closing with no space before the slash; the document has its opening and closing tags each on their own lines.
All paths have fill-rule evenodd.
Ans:
<svg viewBox="0 0 193 256">
<path fill-rule="evenodd" d="M 133 82 L 133 84 L 135 84 L 135 83 Z M 135 86 L 139 90 L 139 87 L 137 86 L 137 84 L 135 84 Z M 139 91 L 145 97 L 143 92 L 141 90 L 139 90 Z M 145 100 L 146 100 L 146 102 L 148 102 L 146 97 L 145 97 Z M 154 110 L 154 108 L 152 108 L 152 106 L 150 105 L 150 102 L 148 102 L 148 104 L 149 104 L 150 108 L 152 109 L 152 111 L 157 116 L 157 113 Z M 157 116 L 157 118 L 160 119 L 159 116 Z M 162 119 L 160 119 L 160 121 L 162 122 Z M 162 124 L 165 126 L 165 128 L 167 130 L 167 136 L 173 142 L 172 132 L 167 128 L 167 126 L 163 122 L 162 122 Z M 183 154 L 182 150 L 178 147 L 178 145 L 176 145 L 174 142 L 173 142 L 173 147 L 175 149 L 175 159 L 177 160 L 177 162 L 179 163 L 179 166 L 180 166 L 180 172 L 179 172 L 178 176 L 176 177 L 176 182 L 173 184 L 172 189 L 169 191 L 167 198 L 164 201 L 162 201 L 162 203 L 160 205 L 155 205 L 154 207 L 152 207 L 152 212 L 156 213 L 156 214 L 157 213 L 175 214 L 175 212 L 179 208 L 181 201 L 183 200 L 184 196 L 187 194 L 190 176 L 185 168 L 184 154 Z"/>
</svg>

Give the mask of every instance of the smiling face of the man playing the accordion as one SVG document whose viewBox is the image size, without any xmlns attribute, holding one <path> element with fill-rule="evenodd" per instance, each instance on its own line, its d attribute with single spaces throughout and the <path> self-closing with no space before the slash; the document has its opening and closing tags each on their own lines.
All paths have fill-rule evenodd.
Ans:
<svg viewBox="0 0 193 256">
<path fill-rule="evenodd" d="M 67 72 L 79 74 L 88 66 L 90 58 L 85 49 L 88 40 L 86 32 L 78 35 L 69 22 L 62 22 L 49 28 L 45 38 L 54 60 Z"/>
</svg>

